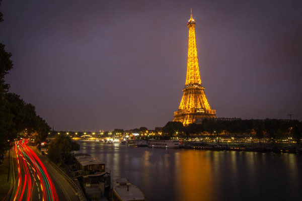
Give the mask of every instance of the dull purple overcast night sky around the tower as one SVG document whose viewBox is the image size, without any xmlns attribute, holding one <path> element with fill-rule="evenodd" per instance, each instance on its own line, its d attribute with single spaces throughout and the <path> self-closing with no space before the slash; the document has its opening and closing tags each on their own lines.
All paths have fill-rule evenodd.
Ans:
<svg viewBox="0 0 302 201">
<path fill-rule="evenodd" d="M 164 126 L 185 85 L 190 8 L 217 117 L 302 120 L 302 1 L 4 0 L 10 90 L 55 130 Z"/>
</svg>

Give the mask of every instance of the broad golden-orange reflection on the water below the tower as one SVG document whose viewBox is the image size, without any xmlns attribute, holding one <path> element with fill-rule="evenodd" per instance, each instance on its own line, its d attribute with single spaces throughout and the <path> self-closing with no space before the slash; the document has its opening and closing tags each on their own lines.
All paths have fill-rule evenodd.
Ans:
<svg viewBox="0 0 302 201">
<path fill-rule="evenodd" d="M 178 200 L 211 200 L 211 161 L 207 151 L 183 151 L 177 154 Z M 197 172 L 197 173 L 196 173 Z"/>
</svg>

